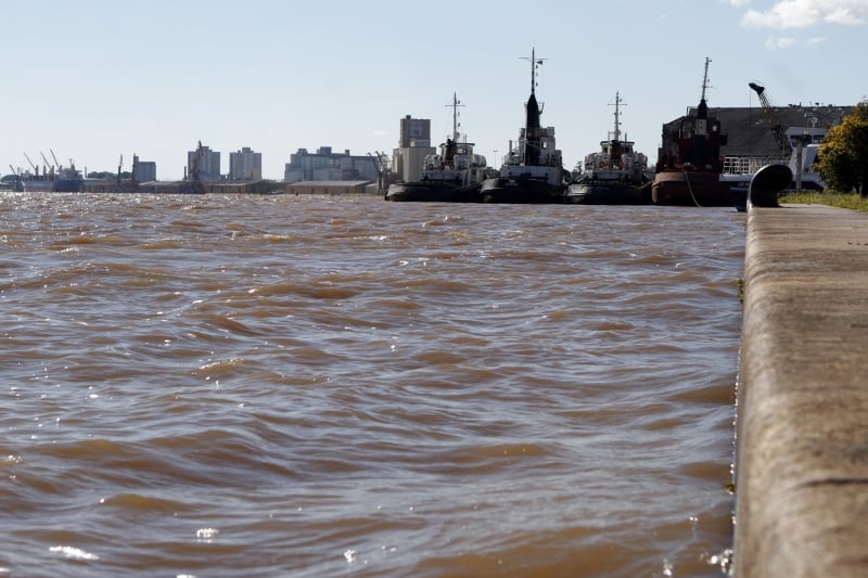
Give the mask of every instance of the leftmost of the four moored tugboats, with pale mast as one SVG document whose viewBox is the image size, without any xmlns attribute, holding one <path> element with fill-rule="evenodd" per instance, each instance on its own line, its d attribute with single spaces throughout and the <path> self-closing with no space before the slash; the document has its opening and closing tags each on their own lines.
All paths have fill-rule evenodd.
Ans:
<svg viewBox="0 0 868 578">
<path fill-rule="evenodd" d="M 441 143 L 439 153 L 427 155 L 422 176 L 414 182 L 390 184 L 386 201 L 469 203 L 480 200 L 485 178 L 485 157 L 473 154 L 473 143 L 459 142 L 458 95 L 452 93 L 452 137 Z"/>
</svg>

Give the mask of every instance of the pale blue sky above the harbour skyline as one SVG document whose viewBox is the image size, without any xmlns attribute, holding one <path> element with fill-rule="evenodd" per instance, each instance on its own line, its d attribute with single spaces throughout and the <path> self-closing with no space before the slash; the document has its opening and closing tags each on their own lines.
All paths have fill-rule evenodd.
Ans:
<svg viewBox="0 0 868 578">
<path fill-rule="evenodd" d="M 868 98 L 868 0 L 3 0 L 0 174 L 51 153 L 88 171 L 183 176 L 196 143 L 250 146 L 263 176 L 320 146 L 432 144 L 460 131 L 496 165 L 524 121 L 532 50 L 541 124 L 572 168 L 621 129 L 653 162 L 662 125 L 706 100 L 854 105 Z M 723 127 L 726 130 L 726 127 Z M 622 136 L 624 138 L 624 136 Z"/>
</svg>

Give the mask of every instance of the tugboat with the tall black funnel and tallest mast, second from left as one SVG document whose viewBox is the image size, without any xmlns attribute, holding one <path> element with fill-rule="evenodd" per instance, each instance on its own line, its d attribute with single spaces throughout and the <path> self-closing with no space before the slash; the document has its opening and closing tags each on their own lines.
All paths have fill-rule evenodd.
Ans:
<svg viewBox="0 0 868 578">
<path fill-rule="evenodd" d="M 525 125 L 515 147 L 496 176 L 485 179 L 483 203 L 563 203 L 564 181 L 561 151 L 554 147 L 554 127 L 539 126 L 542 108 L 536 101 L 536 67 L 542 64 L 531 51 L 531 98 L 525 104 Z"/>
</svg>

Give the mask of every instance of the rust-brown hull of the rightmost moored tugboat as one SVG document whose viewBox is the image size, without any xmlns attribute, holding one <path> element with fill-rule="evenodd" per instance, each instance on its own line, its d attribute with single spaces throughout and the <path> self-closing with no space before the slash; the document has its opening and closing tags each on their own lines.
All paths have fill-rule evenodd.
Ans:
<svg viewBox="0 0 868 578">
<path fill-rule="evenodd" d="M 720 182 L 719 174 L 689 170 L 654 175 L 651 202 L 654 205 L 690 207 L 731 207 L 737 204 L 729 187 Z"/>
</svg>

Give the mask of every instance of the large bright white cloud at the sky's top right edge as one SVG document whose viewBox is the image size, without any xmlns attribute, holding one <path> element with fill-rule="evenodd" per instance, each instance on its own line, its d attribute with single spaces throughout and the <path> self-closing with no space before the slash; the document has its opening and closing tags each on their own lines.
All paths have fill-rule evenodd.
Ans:
<svg viewBox="0 0 868 578">
<path fill-rule="evenodd" d="M 868 0 L 779 0 L 764 12 L 749 10 L 741 24 L 749 28 L 807 28 L 819 24 L 857 26 L 866 18 Z"/>
</svg>

